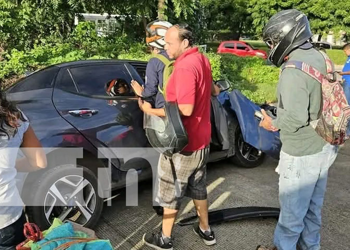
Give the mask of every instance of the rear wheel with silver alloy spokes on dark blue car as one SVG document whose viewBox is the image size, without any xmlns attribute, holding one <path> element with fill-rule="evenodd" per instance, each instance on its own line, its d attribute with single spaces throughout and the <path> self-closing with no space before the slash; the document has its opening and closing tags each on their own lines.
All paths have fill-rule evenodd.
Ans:
<svg viewBox="0 0 350 250">
<path fill-rule="evenodd" d="M 98 181 L 86 167 L 73 164 L 56 166 L 43 173 L 32 188 L 35 190 L 31 193 L 32 203 L 25 207 L 25 211 L 29 221 L 36 223 L 41 230 L 47 229 L 54 217 L 91 228 L 101 215 L 103 199 L 98 195 Z"/>
</svg>

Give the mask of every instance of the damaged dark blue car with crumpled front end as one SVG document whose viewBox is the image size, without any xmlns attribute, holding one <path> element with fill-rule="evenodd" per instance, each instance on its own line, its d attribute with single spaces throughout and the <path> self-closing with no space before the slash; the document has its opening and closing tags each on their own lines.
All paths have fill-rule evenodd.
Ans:
<svg viewBox="0 0 350 250">
<path fill-rule="evenodd" d="M 6 90 L 8 98 L 29 118 L 42 146 L 54 149 L 47 154 L 46 169 L 18 181 L 35 188 L 35 192 L 23 188 L 21 194 L 24 202 L 39 204 L 26 206 L 26 213 L 40 228 L 47 228 L 54 217 L 91 227 L 98 221 L 110 189 L 126 185 L 130 169 L 135 169 L 138 181 L 152 177 L 149 162 L 128 150 L 108 157 L 110 161 L 98 157 L 98 148 L 152 149 L 137 96 L 130 87 L 131 79 L 143 83 L 145 68 L 146 62 L 141 61 L 73 61 L 31 73 Z M 229 159 L 243 167 L 255 167 L 265 154 L 278 157 L 278 132 L 262 129 L 254 118 L 260 106 L 237 90 L 228 92 L 228 81 L 216 84 L 221 92 L 211 97 L 209 161 Z M 264 108 L 274 115 L 273 107 Z M 65 158 L 72 147 L 83 150 L 82 157 L 76 159 L 82 176 L 68 159 L 55 161 L 62 155 Z M 157 158 L 159 153 L 154 150 L 153 156 Z M 108 181 L 99 183 L 97 175 L 107 168 L 111 169 Z"/>
</svg>

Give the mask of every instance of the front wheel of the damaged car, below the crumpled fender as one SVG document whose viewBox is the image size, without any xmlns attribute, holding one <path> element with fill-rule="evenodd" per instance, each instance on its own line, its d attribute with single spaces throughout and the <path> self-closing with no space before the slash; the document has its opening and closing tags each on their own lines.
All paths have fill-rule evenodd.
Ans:
<svg viewBox="0 0 350 250">
<path fill-rule="evenodd" d="M 237 126 L 234 130 L 234 156 L 230 159 L 239 166 L 252 168 L 263 162 L 264 154 L 243 140 L 243 134 Z"/>
</svg>

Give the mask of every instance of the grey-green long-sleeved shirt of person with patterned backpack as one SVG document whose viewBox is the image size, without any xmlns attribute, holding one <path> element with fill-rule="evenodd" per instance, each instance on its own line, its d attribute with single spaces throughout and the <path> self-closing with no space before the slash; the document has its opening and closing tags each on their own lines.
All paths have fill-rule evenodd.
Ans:
<svg viewBox="0 0 350 250">
<path fill-rule="evenodd" d="M 297 48 L 289 54 L 289 60 L 303 61 L 326 73 L 324 58 L 314 48 Z M 299 69 L 285 68 L 276 94 L 277 118 L 272 125 L 280 129 L 281 150 L 293 156 L 320 152 L 326 142 L 309 125 L 321 108 L 320 83 Z"/>
</svg>

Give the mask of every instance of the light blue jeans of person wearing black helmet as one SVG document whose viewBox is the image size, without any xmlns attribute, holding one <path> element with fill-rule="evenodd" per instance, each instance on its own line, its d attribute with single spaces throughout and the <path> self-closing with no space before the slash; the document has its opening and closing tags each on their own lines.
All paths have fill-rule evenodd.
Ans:
<svg viewBox="0 0 350 250">
<path fill-rule="evenodd" d="M 278 250 L 320 249 L 321 208 L 328 168 L 337 155 L 337 146 L 326 144 L 322 151 L 291 156 L 283 151 L 279 172 L 280 215 L 274 232 Z"/>
</svg>

